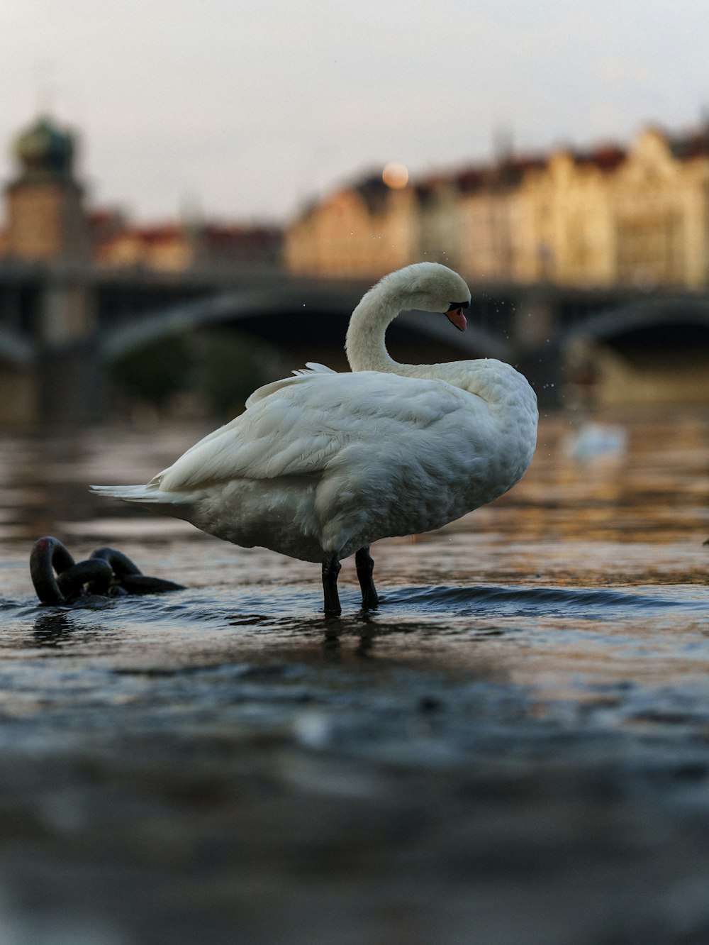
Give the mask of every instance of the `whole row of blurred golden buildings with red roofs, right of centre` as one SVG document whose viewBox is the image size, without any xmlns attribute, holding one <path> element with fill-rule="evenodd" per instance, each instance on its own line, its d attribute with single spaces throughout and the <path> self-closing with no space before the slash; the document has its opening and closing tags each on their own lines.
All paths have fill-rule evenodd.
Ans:
<svg viewBox="0 0 709 945">
<path fill-rule="evenodd" d="M 410 183 L 339 190 L 288 228 L 294 273 L 377 277 L 432 259 L 479 281 L 709 283 L 709 129 L 629 148 L 506 155 Z"/>
</svg>

